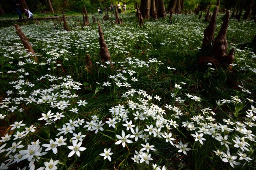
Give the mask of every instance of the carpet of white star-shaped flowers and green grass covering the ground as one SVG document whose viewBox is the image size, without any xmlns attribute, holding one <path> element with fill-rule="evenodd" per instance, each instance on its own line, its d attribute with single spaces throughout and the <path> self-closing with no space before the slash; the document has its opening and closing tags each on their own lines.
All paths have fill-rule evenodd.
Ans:
<svg viewBox="0 0 256 170">
<path fill-rule="evenodd" d="M 89 19 L 83 27 L 82 17 L 66 18 L 71 31 L 57 21 L 24 24 L 35 54 L 14 26 L 0 29 L 0 169 L 255 167 L 253 21 L 230 19 L 228 70 L 199 67 L 208 23 L 194 14 L 143 26 L 133 14 L 100 21 L 106 63 Z"/>
</svg>

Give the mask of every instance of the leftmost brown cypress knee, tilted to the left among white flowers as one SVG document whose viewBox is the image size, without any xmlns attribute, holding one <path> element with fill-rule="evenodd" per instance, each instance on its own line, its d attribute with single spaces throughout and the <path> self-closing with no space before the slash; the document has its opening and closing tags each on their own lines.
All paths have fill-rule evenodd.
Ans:
<svg viewBox="0 0 256 170">
<path fill-rule="evenodd" d="M 27 50 L 27 52 L 35 54 L 31 44 L 28 41 L 28 38 L 22 32 L 21 27 L 19 25 L 17 25 L 17 24 L 14 24 L 14 25 L 15 25 L 15 29 L 16 29 L 16 34 L 21 39 L 24 48 Z M 30 56 L 30 58 L 32 58 L 34 60 L 34 62 L 38 62 L 38 58 L 36 57 L 36 55 Z"/>
</svg>

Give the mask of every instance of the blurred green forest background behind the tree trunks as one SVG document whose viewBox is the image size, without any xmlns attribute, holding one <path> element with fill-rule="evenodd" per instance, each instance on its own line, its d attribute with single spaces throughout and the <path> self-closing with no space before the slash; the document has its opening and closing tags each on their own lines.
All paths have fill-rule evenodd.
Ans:
<svg viewBox="0 0 256 170">
<path fill-rule="evenodd" d="M 136 4 L 139 5 L 143 0 L 17 0 L 20 4 L 26 3 L 31 12 L 35 14 L 50 14 L 49 2 L 52 5 L 54 13 L 60 13 L 62 10 L 64 12 L 72 13 L 81 13 L 83 5 L 86 6 L 86 9 L 89 13 L 96 13 L 97 8 L 100 7 L 101 10 L 109 9 L 110 4 L 117 5 L 119 2 L 121 6 L 123 3 L 126 3 L 126 10 L 128 12 L 135 12 Z M 163 0 L 166 12 L 168 12 L 168 5 L 175 0 Z M 183 10 L 188 10 L 193 12 L 196 7 L 200 7 L 201 10 L 206 10 L 209 4 L 215 4 L 216 0 L 176 0 L 181 4 Z M 231 9 L 237 3 L 240 3 L 241 0 L 221 0 L 222 9 Z M 244 7 L 247 7 L 247 3 Z M 211 7 L 211 10 L 214 9 L 214 6 Z M 22 9 L 21 9 L 22 10 Z M 0 14 L 16 14 L 12 0 L 0 0 Z"/>
</svg>

